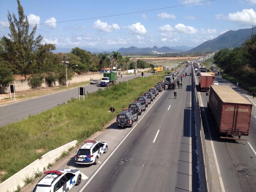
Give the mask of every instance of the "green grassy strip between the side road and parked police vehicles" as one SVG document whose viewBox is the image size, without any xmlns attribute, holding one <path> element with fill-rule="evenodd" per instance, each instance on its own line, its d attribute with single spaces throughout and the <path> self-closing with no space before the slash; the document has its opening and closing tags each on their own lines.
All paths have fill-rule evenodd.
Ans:
<svg viewBox="0 0 256 192">
<path fill-rule="evenodd" d="M 123 108 L 148 91 L 164 75 L 136 78 L 105 90 L 87 93 L 85 101 L 71 99 L 53 109 L 1 127 L 0 175 L 6 180 L 48 151 L 73 140 L 82 142 L 102 130 Z"/>
</svg>

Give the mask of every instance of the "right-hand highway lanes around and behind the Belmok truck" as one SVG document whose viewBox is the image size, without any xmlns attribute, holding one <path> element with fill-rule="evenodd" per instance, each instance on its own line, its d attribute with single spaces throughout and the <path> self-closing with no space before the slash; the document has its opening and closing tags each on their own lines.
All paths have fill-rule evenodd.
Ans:
<svg viewBox="0 0 256 192">
<path fill-rule="evenodd" d="M 198 83 L 199 76 L 196 76 L 196 84 Z M 248 93 L 240 88 L 236 88 L 234 84 L 229 81 L 216 76 L 214 79 L 221 85 L 228 85 L 248 101 Z M 198 89 L 197 89 L 198 90 Z M 250 122 L 249 136 L 242 136 L 247 141 L 220 139 L 218 131 L 216 130 L 215 122 L 212 116 L 209 114 L 207 108 L 207 99 L 205 92 L 200 92 L 202 107 L 201 110 L 205 111 L 206 117 L 203 116 L 203 126 L 206 135 L 206 141 L 209 141 L 209 133 L 207 131 L 208 122 L 209 130 L 212 136 L 212 141 L 215 149 L 215 153 L 218 160 L 218 166 L 223 181 L 223 187 L 225 192 L 252 192 L 256 191 L 256 154 L 253 149 L 256 149 L 256 118 L 255 106 L 253 105 L 253 111 Z M 199 99 L 199 101 L 201 102 Z M 200 103 L 201 104 L 201 103 Z M 203 114 L 203 113 L 202 113 Z M 208 146 L 207 146 L 208 147 Z M 218 176 L 217 176 L 218 177 Z M 224 192 L 222 191 L 222 192 Z"/>
</svg>

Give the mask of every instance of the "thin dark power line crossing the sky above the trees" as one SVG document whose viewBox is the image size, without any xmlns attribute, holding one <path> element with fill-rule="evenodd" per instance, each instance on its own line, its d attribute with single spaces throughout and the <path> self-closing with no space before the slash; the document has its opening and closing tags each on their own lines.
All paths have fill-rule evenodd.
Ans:
<svg viewBox="0 0 256 192">
<path fill-rule="evenodd" d="M 143 11 L 135 11 L 135 12 L 130 12 L 130 13 L 121 13 L 121 14 L 115 14 L 115 15 L 105 15 L 105 16 L 90 17 L 90 18 L 84 18 L 84 19 L 74 19 L 74 20 L 56 21 L 56 22 L 49 22 L 49 23 L 39 23 L 39 24 L 32 24 L 32 25 L 29 25 L 29 26 L 52 24 L 52 23 L 63 23 L 63 22 L 71 22 L 71 21 L 79 21 L 79 20 L 99 19 L 99 18 L 114 17 L 114 16 L 120 16 L 120 15 L 130 15 L 130 14 L 135 14 L 135 13 L 143 13 L 143 12 L 148 12 L 148 11 L 169 9 L 169 8 L 174 8 L 174 7 L 182 7 L 182 6 L 186 6 L 186 5 L 195 5 L 195 4 L 199 4 L 199 3 L 207 3 L 207 2 L 212 2 L 212 1 L 217 1 L 217 0 L 201 1 L 201 2 L 197 2 L 197 3 L 188 3 L 188 4 L 184 4 L 184 5 L 175 5 L 175 6 L 170 6 L 170 7 L 163 7 L 163 8 L 158 8 L 158 9 L 149 9 L 149 10 L 143 10 Z M 5 29 L 5 28 L 9 28 L 9 27 L 2 27 L 0 29 Z"/>
</svg>

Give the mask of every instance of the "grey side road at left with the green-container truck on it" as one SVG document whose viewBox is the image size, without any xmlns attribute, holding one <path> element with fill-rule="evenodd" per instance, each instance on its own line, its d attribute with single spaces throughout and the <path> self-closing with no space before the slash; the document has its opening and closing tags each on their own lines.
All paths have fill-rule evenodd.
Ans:
<svg viewBox="0 0 256 192">
<path fill-rule="evenodd" d="M 145 77 L 152 74 L 153 73 L 144 73 Z M 128 81 L 140 76 L 140 73 L 137 74 L 137 76 L 123 76 L 122 78 L 118 78 L 117 82 Z M 104 87 L 101 87 L 100 85 L 86 85 L 84 87 L 85 91 L 88 92 L 96 91 L 99 88 L 104 89 Z M 20 121 L 21 119 L 26 118 L 28 115 L 35 115 L 54 108 L 58 103 L 67 102 L 67 100 L 69 100 L 71 97 L 79 97 L 78 88 L 0 106 L 0 126 Z"/>
</svg>

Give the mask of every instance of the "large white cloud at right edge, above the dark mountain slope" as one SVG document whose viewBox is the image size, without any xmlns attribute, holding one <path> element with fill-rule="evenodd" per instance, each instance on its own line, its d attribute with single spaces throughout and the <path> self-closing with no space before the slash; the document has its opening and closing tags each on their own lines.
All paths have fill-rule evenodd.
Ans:
<svg viewBox="0 0 256 192">
<path fill-rule="evenodd" d="M 256 25 L 256 12 L 253 9 L 243 9 L 241 12 L 230 13 L 227 19 L 244 25 Z"/>
</svg>

